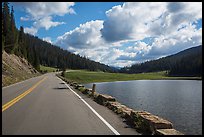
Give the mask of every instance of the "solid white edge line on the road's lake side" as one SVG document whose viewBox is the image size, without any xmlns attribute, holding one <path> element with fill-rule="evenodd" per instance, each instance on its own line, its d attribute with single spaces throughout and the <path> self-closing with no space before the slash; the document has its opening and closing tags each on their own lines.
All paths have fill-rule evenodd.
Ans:
<svg viewBox="0 0 204 137">
<path fill-rule="evenodd" d="M 60 79 L 59 77 L 57 77 L 58 79 Z M 63 81 L 62 79 L 60 79 L 61 81 Z M 64 82 L 64 81 L 63 81 Z M 64 82 L 65 83 L 65 82 Z M 116 134 L 116 135 L 120 135 L 120 133 L 118 133 L 102 116 L 100 116 L 81 96 L 79 96 L 76 92 L 74 92 L 68 85 L 67 83 L 65 83 L 65 85 L 81 100 L 84 102 L 84 104 L 86 104 L 91 111 L 93 111 L 94 114 L 96 114 L 96 116 L 98 116 L 98 118 L 103 121 L 104 124 L 106 124 L 106 126 L 108 126 L 110 128 L 110 130 Z"/>
</svg>

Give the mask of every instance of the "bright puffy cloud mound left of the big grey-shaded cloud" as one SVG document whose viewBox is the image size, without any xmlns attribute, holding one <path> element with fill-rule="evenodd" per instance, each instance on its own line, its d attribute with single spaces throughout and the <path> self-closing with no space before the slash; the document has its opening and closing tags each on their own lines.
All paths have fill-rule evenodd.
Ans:
<svg viewBox="0 0 204 137">
<path fill-rule="evenodd" d="M 57 45 L 64 48 L 72 47 L 77 49 L 93 48 L 104 45 L 101 38 L 100 29 L 103 27 L 103 21 L 96 20 L 80 24 L 79 27 L 65 33 L 57 38 Z"/>
</svg>

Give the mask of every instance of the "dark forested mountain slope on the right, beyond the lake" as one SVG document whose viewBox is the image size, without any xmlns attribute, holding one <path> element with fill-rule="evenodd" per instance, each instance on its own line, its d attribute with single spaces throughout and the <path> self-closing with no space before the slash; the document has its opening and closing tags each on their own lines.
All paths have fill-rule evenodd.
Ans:
<svg viewBox="0 0 204 137">
<path fill-rule="evenodd" d="M 165 71 L 170 76 L 201 76 L 202 45 L 157 60 L 134 64 L 121 69 L 123 73 L 143 73 Z"/>
</svg>

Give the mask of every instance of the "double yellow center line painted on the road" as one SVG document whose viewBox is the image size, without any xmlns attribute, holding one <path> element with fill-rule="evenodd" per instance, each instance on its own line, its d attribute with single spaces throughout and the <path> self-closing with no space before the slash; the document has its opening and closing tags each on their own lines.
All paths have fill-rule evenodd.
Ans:
<svg viewBox="0 0 204 137">
<path fill-rule="evenodd" d="M 47 77 L 44 77 L 42 80 L 40 80 L 39 82 L 37 82 L 34 86 L 32 86 L 30 89 L 26 90 L 24 93 L 22 93 L 21 95 L 17 96 L 16 98 L 14 98 L 13 100 L 9 101 L 8 103 L 6 103 L 5 105 L 2 106 L 2 112 L 5 111 L 6 109 L 8 109 L 9 107 L 11 107 L 12 105 L 14 105 L 16 102 L 18 102 L 19 100 L 21 100 L 23 97 L 25 97 L 27 94 L 29 94 L 31 91 L 33 91 L 40 83 L 42 83 Z"/>
</svg>

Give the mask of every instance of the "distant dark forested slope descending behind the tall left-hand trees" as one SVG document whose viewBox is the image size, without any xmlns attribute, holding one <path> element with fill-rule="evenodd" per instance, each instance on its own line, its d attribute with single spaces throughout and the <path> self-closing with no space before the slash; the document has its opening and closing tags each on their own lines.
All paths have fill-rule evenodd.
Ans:
<svg viewBox="0 0 204 137">
<path fill-rule="evenodd" d="M 91 71 L 113 71 L 113 69 L 107 65 L 75 55 L 67 50 L 60 49 L 57 46 L 42 41 L 41 39 L 29 34 L 26 34 L 26 39 L 29 39 L 28 42 L 30 42 L 28 44 L 30 45 L 29 52 L 32 53 L 32 50 L 35 51 L 39 58 L 40 64 L 44 66 L 70 69 L 88 69 Z M 34 56 L 34 54 L 31 56 Z"/>
</svg>

